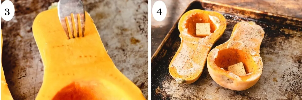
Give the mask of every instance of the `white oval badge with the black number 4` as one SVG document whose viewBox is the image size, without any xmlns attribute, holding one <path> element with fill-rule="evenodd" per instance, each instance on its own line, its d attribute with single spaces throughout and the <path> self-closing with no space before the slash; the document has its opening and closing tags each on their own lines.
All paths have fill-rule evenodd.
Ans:
<svg viewBox="0 0 302 100">
<path fill-rule="evenodd" d="M 156 21 L 162 21 L 167 15 L 167 7 L 164 2 L 156 1 L 152 7 L 152 15 Z"/>
</svg>

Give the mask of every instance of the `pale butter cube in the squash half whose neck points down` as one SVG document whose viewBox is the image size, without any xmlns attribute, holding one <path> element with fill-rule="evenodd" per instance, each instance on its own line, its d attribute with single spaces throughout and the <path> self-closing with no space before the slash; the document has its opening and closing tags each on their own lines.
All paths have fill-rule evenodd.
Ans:
<svg viewBox="0 0 302 100">
<path fill-rule="evenodd" d="M 211 34 L 210 23 L 196 23 L 196 36 L 206 37 Z"/>
</svg>

